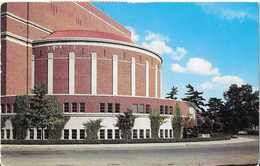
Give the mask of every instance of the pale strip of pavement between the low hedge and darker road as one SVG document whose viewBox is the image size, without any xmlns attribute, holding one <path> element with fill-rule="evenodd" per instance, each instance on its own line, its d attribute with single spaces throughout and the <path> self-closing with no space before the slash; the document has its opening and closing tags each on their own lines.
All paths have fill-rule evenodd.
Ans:
<svg viewBox="0 0 260 166">
<path fill-rule="evenodd" d="M 56 151 L 56 150 L 136 150 L 138 148 L 205 146 L 217 144 L 233 144 L 257 141 L 253 138 L 238 137 L 237 139 L 206 142 L 178 142 L 178 143 L 146 143 L 146 144 L 70 144 L 70 145 L 1 145 L 2 151 Z"/>
</svg>

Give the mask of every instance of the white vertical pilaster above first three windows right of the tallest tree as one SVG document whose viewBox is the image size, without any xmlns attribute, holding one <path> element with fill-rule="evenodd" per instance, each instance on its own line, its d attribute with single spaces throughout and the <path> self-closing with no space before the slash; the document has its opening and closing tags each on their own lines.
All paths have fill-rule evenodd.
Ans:
<svg viewBox="0 0 260 166">
<path fill-rule="evenodd" d="M 69 53 L 69 94 L 75 93 L 75 53 Z"/>
</svg>

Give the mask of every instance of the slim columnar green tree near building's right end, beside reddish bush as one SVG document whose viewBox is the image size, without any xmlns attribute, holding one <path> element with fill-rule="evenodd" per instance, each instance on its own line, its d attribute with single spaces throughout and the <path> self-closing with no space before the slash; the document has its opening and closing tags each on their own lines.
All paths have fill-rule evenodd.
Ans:
<svg viewBox="0 0 260 166">
<path fill-rule="evenodd" d="M 176 103 L 174 117 L 172 118 L 172 129 L 173 129 L 174 138 L 181 139 L 182 129 L 183 129 L 183 118 L 181 115 L 179 103 Z"/>
</svg>

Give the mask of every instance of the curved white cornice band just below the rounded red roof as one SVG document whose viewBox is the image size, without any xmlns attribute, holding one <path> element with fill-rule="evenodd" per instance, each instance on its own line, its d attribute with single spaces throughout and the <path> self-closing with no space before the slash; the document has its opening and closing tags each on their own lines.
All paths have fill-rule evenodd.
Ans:
<svg viewBox="0 0 260 166">
<path fill-rule="evenodd" d="M 111 47 L 124 49 L 129 51 L 135 51 L 149 55 L 156 58 L 162 63 L 161 56 L 150 50 L 149 48 L 142 47 L 137 44 L 122 42 L 111 39 L 101 39 L 101 38 L 86 38 L 86 37 L 63 37 L 63 38 L 52 38 L 52 39 L 41 39 L 33 41 L 33 48 L 36 47 L 49 47 L 56 45 L 87 45 L 87 46 L 100 46 L 100 47 Z"/>
</svg>

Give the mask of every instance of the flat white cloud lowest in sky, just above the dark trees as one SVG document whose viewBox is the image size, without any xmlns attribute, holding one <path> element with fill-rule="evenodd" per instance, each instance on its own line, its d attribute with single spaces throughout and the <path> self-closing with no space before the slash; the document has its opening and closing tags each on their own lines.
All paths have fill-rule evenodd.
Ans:
<svg viewBox="0 0 260 166">
<path fill-rule="evenodd" d="M 200 84 L 199 87 L 202 89 L 227 89 L 231 84 L 241 86 L 244 84 L 244 81 L 237 76 L 215 76 L 211 79 L 211 81 Z"/>
</svg>

